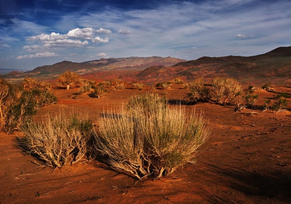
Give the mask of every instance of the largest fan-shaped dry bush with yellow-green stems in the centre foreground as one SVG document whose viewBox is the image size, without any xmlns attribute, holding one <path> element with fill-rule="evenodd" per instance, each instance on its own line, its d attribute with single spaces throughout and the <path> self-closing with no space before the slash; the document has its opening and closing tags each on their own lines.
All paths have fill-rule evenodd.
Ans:
<svg viewBox="0 0 291 204">
<path fill-rule="evenodd" d="M 137 102 L 134 105 L 99 118 L 95 137 L 99 154 L 113 169 L 137 179 L 159 179 L 187 162 L 194 163 L 197 148 L 210 134 L 203 115 L 187 114 L 180 105 L 169 108 L 156 96 L 139 97 L 143 96 L 131 99 Z M 146 104 L 149 98 L 151 105 Z"/>
</svg>

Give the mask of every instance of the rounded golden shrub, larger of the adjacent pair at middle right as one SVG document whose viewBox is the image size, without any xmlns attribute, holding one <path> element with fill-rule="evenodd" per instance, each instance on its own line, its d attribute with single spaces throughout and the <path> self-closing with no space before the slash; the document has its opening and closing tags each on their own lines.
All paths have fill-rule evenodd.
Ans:
<svg viewBox="0 0 291 204">
<path fill-rule="evenodd" d="M 216 77 L 212 79 L 210 88 L 211 97 L 218 103 L 224 105 L 238 100 L 242 94 L 242 86 L 232 78 Z"/>
</svg>

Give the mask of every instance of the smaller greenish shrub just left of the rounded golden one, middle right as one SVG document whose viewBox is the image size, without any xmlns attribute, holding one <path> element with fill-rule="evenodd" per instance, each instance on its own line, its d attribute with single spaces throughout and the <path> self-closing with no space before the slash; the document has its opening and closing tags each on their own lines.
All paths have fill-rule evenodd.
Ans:
<svg viewBox="0 0 291 204">
<path fill-rule="evenodd" d="M 194 102 L 208 102 L 210 100 L 210 90 L 204 86 L 202 77 L 197 78 L 194 82 L 188 84 L 191 91 L 191 99 Z"/>
</svg>

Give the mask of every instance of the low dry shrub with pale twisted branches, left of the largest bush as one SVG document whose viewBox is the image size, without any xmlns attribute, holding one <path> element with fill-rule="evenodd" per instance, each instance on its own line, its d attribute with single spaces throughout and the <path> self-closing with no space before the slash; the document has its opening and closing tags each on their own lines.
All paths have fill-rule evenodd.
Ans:
<svg viewBox="0 0 291 204">
<path fill-rule="evenodd" d="M 92 130 L 92 121 L 86 114 L 47 115 L 41 123 L 32 121 L 22 126 L 24 137 L 17 137 L 17 144 L 46 166 L 57 168 L 85 158 Z"/>
</svg>

